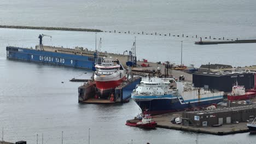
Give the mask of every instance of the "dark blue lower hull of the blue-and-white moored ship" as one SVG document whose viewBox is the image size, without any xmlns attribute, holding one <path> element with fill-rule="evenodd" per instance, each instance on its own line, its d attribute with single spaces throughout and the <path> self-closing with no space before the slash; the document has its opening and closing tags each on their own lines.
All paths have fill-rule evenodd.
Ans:
<svg viewBox="0 0 256 144">
<path fill-rule="evenodd" d="M 179 99 L 152 99 L 141 100 L 134 99 L 141 110 L 148 110 L 151 115 L 161 115 L 164 113 L 171 113 L 176 111 L 183 111 L 187 109 L 194 109 L 195 107 L 210 106 L 211 104 L 217 104 L 223 100 L 220 96 L 219 99 L 211 99 L 205 101 L 197 101 L 194 103 L 181 103 Z"/>
</svg>

